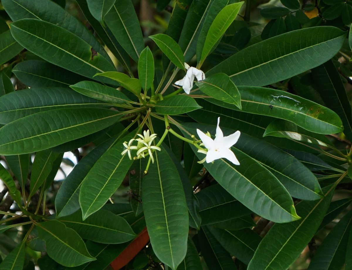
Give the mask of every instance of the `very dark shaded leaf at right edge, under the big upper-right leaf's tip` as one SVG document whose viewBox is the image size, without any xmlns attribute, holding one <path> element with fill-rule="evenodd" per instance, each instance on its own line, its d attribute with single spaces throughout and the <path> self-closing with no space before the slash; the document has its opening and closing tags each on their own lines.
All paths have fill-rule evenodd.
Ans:
<svg viewBox="0 0 352 270">
<path fill-rule="evenodd" d="M 332 60 L 312 69 L 312 76 L 322 100 L 338 114 L 344 125 L 344 134 L 348 140 L 352 140 L 351 105 Z"/>
</svg>

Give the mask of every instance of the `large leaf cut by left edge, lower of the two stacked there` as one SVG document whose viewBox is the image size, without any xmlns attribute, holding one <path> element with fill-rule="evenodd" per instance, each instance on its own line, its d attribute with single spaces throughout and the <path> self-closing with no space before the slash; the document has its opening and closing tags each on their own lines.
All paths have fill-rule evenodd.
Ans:
<svg viewBox="0 0 352 270">
<path fill-rule="evenodd" d="M 98 108 L 32 114 L 0 129 L 0 153 L 14 155 L 45 150 L 111 126 L 120 117 L 115 111 Z"/>
</svg>

